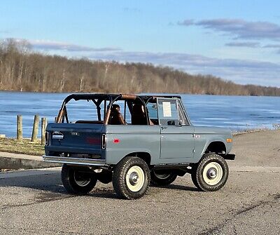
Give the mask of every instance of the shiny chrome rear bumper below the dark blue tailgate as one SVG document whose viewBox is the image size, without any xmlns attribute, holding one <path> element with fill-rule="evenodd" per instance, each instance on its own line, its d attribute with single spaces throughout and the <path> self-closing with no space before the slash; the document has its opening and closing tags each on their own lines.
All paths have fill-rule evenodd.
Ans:
<svg viewBox="0 0 280 235">
<path fill-rule="evenodd" d="M 52 163 L 66 163 L 76 166 L 107 166 L 104 159 L 79 159 L 65 156 L 43 155 L 43 161 Z"/>
</svg>

